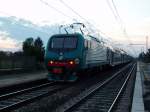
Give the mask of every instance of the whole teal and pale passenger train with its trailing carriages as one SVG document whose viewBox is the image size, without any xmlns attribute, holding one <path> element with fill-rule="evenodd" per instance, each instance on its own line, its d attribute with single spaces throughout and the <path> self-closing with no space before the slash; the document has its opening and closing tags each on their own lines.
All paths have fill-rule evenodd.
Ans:
<svg viewBox="0 0 150 112">
<path fill-rule="evenodd" d="M 82 33 L 52 35 L 45 51 L 48 80 L 74 82 L 81 71 L 115 66 L 132 60 L 125 51 L 112 48 L 91 35 Z"/>
</svg>

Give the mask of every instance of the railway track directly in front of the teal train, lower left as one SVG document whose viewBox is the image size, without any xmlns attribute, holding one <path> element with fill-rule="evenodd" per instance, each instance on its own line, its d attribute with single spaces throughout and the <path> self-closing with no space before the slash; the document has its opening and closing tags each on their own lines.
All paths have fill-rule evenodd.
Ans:
<svg viewBox="0 0 150 112">
<path fill-rule="evenodd" d="M 15 91 L 0 96 L 0 112 L 8 112 L 19 106 L 35 101 L 46 95 L 51 95 L 57 91 L 67 88 L 66 85 L 58 85 L 52 82 L 35 87 Z"/>
</svg>

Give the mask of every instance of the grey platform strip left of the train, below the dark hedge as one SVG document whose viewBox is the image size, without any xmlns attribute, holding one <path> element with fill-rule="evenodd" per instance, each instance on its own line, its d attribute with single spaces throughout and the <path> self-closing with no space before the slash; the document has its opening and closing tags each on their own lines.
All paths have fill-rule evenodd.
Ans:
<svg viewBox="0 0 150 112">
<path fill-rule="evenodd" d="M 17 73 L 17 74 L 3 74 L 0 75 L 0 88 L 32 82 L 41 79 L 46 79 L 46 75 L 47 75 L 46 71 L 31 72 L 31 73 Z"/>
</svg>

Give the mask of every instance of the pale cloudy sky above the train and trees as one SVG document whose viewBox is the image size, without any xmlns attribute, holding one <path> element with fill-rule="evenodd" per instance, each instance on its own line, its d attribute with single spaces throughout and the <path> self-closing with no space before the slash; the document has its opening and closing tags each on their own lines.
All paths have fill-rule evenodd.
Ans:
<svg viewBox="0 0 150 112">
<path fill-rule="evenodd" d="M 32 36 L 46 44 L 58 25 L 78 21 L 137 56 L 150 36 L 149 11 L 150 0 L 0 0 L 0 50 L 21 50 Z"/>
</svg>

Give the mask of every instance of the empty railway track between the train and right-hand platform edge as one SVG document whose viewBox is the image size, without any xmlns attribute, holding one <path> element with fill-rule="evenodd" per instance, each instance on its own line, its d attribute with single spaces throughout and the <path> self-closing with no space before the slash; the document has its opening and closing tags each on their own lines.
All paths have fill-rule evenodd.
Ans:
<svg viewBox="0 0 150 112">
<path fill-rule="evenodd" d="M 111 112 L 136 64 L 130 64 L 56 109 L 57 112 Z"/>
</svg>

